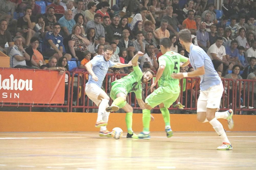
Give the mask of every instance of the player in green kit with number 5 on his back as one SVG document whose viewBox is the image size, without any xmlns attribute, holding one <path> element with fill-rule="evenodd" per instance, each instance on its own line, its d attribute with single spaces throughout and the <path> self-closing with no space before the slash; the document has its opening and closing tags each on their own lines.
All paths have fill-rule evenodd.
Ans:
<svg viewBox="0 0 256 170">
<path fill-rule="evenodd" d="M 160 111 L 164 117 L 165 131 L 168 138 L 172 137 L 172 129 L 170 126 L 170 115 L 168 108 L 175 102 L 179 96 L 179 79 L 171 77 L 172 73 L 178 73 L 180 62 L 185 62 L 181 67 L 189 64 L 189 59 L 179 53 L 171 51 L 171 41 L 169 38 L 160 40 L 160 49 L 163 53 L 158 58 L 159 68 L 156 74 L 156 79 L 152 83 L 150 90 L 158 81 L 158 88 L 154 90 L 145 99 L 144 110 L 142 110 L 143 117 L 143 132 L 139 135 L 133 136 L 136 139 L 150 139 L 149 124 L 150 124 L 150 110 L 159 105 Z"/>
</svg>

